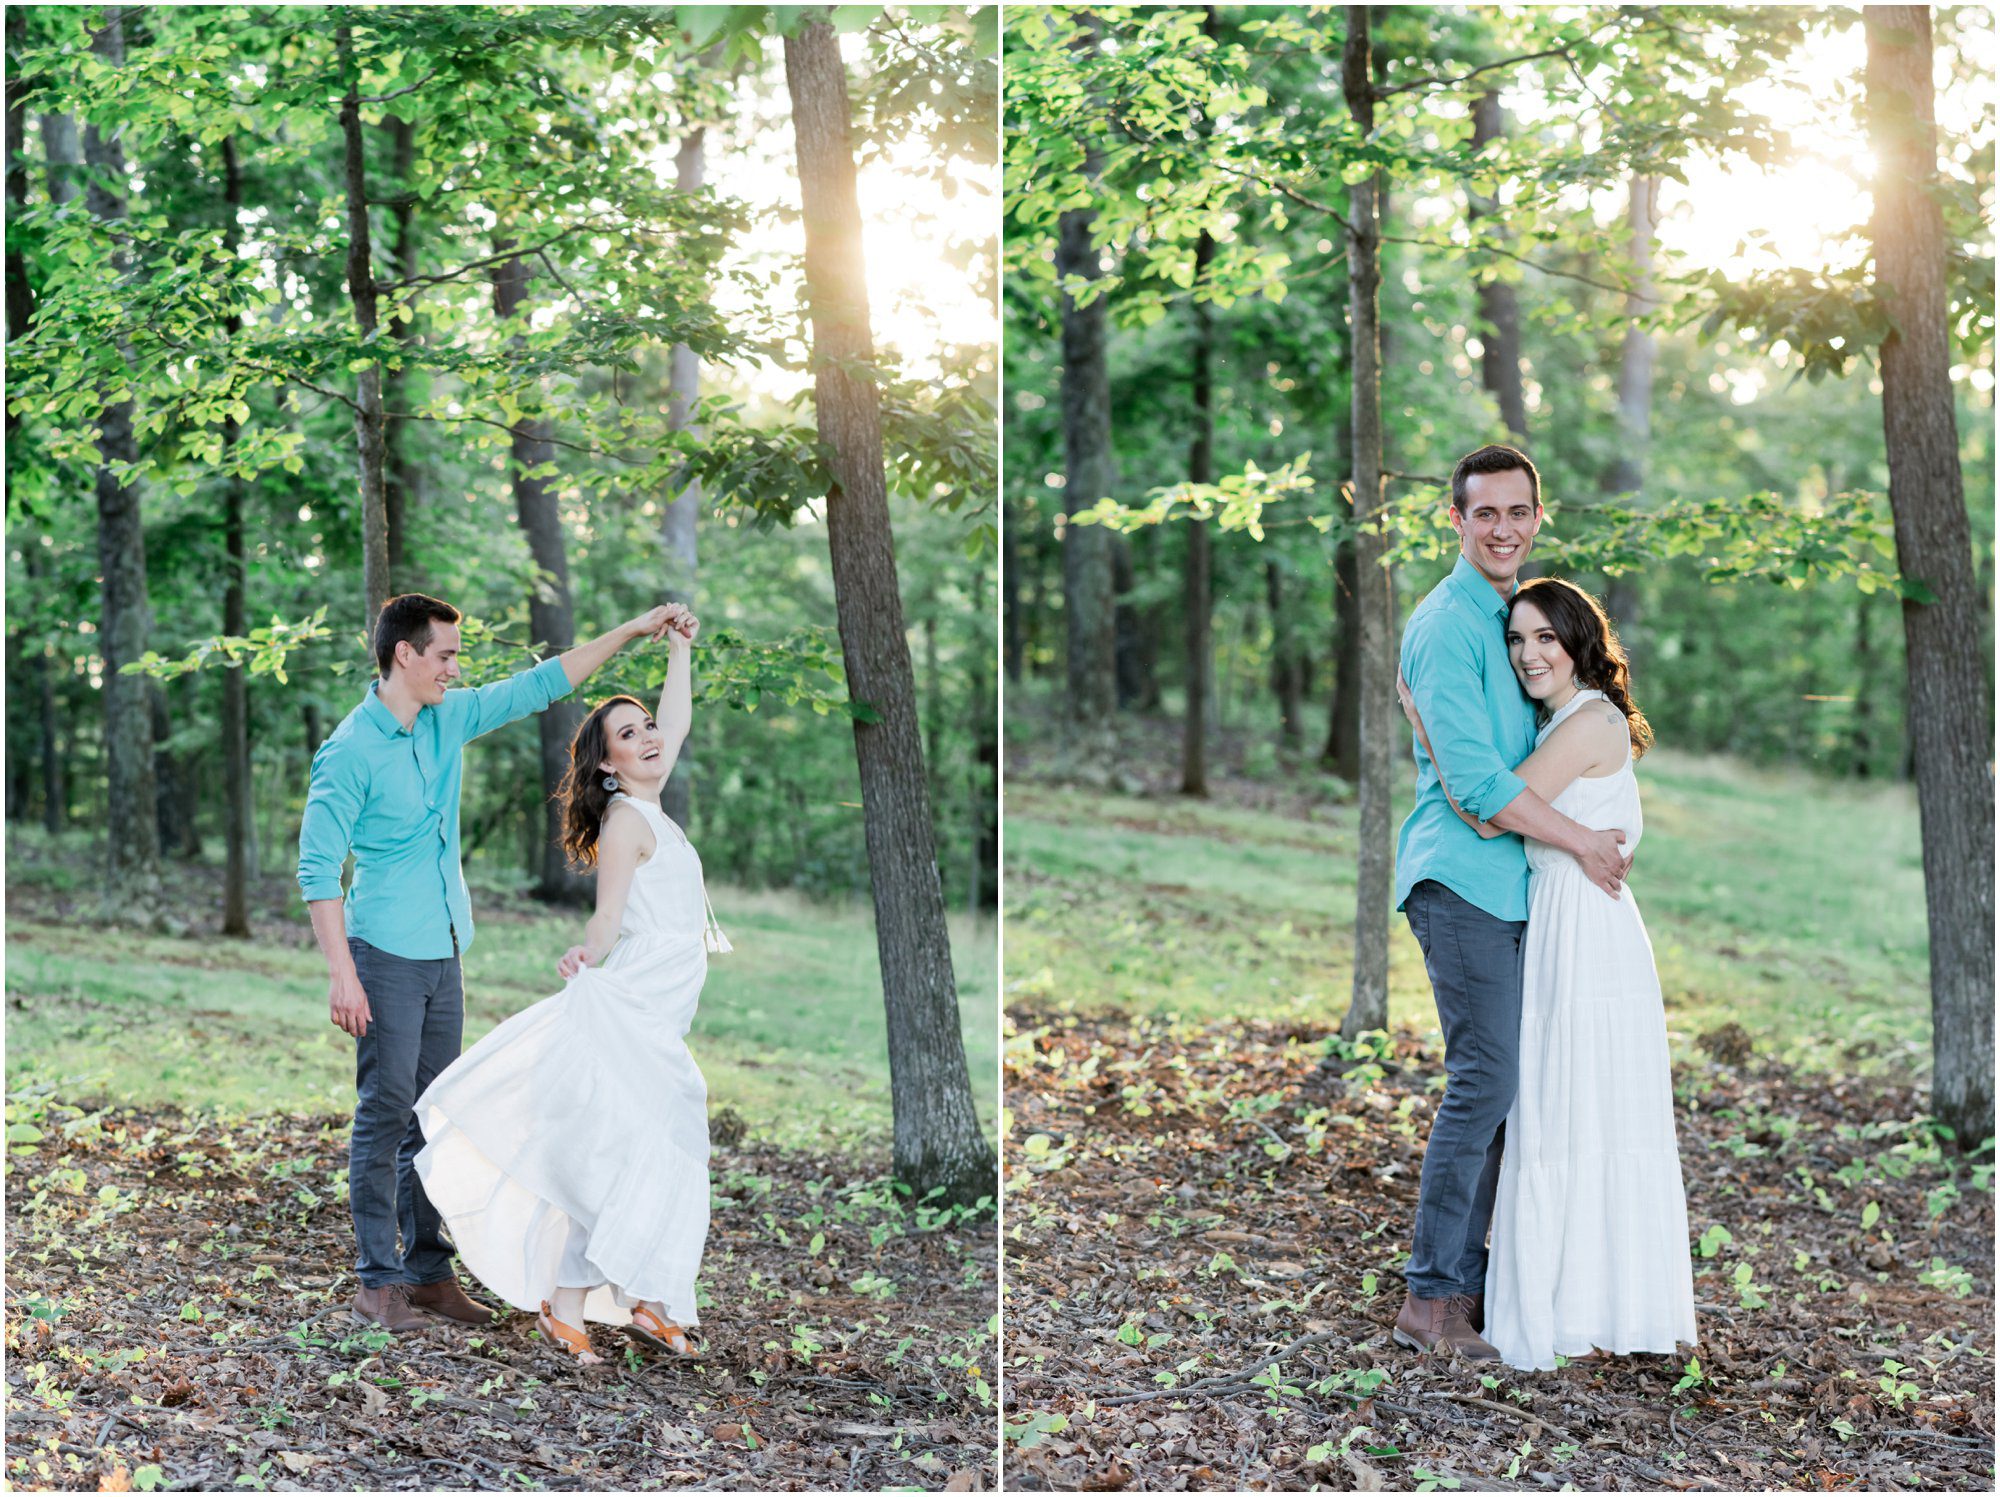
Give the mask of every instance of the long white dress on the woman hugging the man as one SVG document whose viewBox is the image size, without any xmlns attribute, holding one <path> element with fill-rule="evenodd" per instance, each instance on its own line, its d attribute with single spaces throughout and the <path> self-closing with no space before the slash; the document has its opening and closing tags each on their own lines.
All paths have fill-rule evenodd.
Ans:
<svg viewBox="0 0 2000 1497">
<path fill-rule="evenodd" d="M 1578 690 L 1538 742 L 1586 700 L 1604 692 Z M 1576 779 L 1552 805 L 1636 849 L 1630 748 L 1618 773 Z M 1568 853 L 1530 841 L 1520 993 L 1484 1335 L 1508 1367 L 1672 1353 L 1694 1341 L 1688 1197 L 1660 975 L 1632 887 L 1612 899 Z"/>
</svg>

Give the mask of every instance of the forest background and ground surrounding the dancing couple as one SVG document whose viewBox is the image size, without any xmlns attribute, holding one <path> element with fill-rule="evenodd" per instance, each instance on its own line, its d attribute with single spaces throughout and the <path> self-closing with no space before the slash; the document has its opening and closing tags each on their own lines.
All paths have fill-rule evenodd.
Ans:
<svg viewBox="0 0 2000 1497">
<path fill-rule="evenodd" d="M 996 50 L 968 6 L 8 10 L 16 1483 L 990 1481 Z M 468 684 L 702 618 L 714 1355 L 544 1395 L 532 1453 L 532 1335 L 468 1373 L 344 1321 L 292 869 L 402 590 Z M 466 1043 L 588 911 L 582 702 L 662 674 L 466 755 Z"/>
</svg>

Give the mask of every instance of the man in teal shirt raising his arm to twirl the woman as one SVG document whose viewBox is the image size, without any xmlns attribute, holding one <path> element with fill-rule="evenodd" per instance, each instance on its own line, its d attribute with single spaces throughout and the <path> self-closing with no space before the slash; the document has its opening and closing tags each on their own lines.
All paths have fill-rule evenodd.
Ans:
<svg viewBox="0 0 2000 1497">
<path fill-rule="evenodd" d="M 424 1147 L 414 1103 L 458 1059 L 460 957 L 472 903 L 458 859 L 460 751 L 582 686 L 668 608 L 542 660 L 508 680 L 448 690 L 460 676 L 458 610 L 406 592 L 374 628 L 380 676 L 312 757 L 298 831 L 298 887 L 332 979 L 332 1021 L 354 1037 L 348 1209 L 358 1249 L 354 1315 L 402 1335 L 424 1313 L 484 1325 L 452 1273 L 452 1247 L 412 1161 Z M 354 887 L 340 865 L 354 853 Z M 400 1235 L 400 1245 L 398 1245 Z"/>
</svg>

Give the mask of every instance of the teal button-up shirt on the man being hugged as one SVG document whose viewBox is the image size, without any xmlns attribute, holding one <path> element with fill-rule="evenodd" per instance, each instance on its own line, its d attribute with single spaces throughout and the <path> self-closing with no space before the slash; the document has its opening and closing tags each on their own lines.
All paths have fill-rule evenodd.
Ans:
<svg viewBox="0 0 2000 1497">
<path fill-rule="evenodd" d="M 1424 879 L 1502 921 L 1528 919 L 1528 853 L 1520 837 L 1480 837 L 1444 799 L 1492 821 L 1526 783 L 1514 765 L 1534 753 L 1534 702 L 1506 658 L 1508 602 L 1464 556 L 1402 630 L 1402 678 L 1424 734 L 1416 742 L 1416 809 L 1396 839 L 1396 909 Z M 1440 783 L 1438 775 L 1444 775 Z"/>
</svg>

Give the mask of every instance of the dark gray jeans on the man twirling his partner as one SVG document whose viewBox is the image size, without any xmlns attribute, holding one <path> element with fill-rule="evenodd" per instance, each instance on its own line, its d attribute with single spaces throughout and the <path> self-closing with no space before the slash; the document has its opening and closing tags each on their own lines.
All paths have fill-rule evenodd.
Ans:
<svg viewBox="0 0 2000 1497">
<path fill-rule="evenodd" d="M 424 1131 L 414 1105 L 458 1059 L 466 1027 L 458 957 L 410 961 L 356 937 L 348 937 L 348 951 L 370 1013 L 368 1033 L 354 1041 L 354 1139 L 348 1147 L 354 1271 L 368 1289 L 438 1283 L 452 1277 L 452 1245 L 416 1177 Z"/>
</svg>

